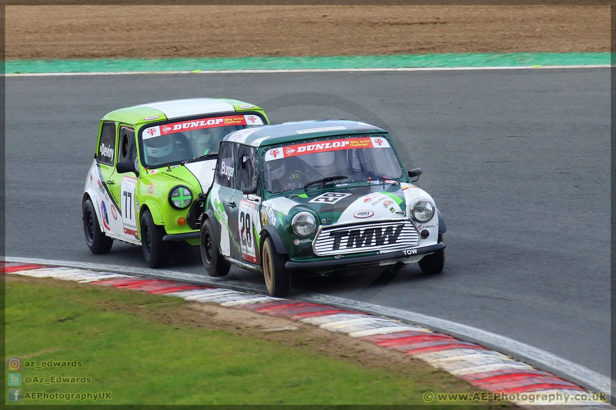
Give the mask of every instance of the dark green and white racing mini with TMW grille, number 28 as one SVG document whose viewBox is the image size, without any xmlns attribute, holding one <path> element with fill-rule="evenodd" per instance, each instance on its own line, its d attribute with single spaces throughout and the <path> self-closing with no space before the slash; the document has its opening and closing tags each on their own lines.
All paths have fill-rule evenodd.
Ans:
<svg viewBox="0 0 616 410">
<path fill-rule="evenodd" d="M 231 264 L 262 272 L 284 296 L 294 275 L 445 264 L 445 222 L 405 173 L 381 128 L 347 120 L 263 125 L 225 136 L 201 216 L 211 276 Z"/>
</svg>

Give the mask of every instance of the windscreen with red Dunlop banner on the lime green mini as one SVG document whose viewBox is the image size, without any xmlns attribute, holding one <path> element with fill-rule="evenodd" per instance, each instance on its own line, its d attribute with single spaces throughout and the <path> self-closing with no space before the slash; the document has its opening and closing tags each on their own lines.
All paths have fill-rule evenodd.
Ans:
<svg viewBox="0 0 616 410">
<path fill-rule="evenodd" d="M 263 119 L 257 114 L 234 114 L 142 128 L 144 167 L 163 167 L 216 154 L 225 135 L 259 125 L 263 125 Z"/>
</svg>

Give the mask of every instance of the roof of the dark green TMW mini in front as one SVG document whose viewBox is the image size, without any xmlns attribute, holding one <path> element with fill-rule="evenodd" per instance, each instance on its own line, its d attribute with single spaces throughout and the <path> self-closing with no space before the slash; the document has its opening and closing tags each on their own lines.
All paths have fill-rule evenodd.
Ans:
<svg viewBox="0 0 616 410">
<path fill-rule="evenodd" d="M 222 141 L 236 142 L 254 147 L 303 141 L 322 136 L 386 133 L 383 128 L 361 121 L 309 120 L 262 125 L 230 133 Z"/>
</svg>

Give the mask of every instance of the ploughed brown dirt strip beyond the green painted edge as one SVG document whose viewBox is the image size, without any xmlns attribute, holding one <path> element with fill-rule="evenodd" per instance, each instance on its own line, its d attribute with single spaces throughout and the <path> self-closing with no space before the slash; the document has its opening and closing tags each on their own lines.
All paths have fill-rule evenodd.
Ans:
<svg viewBox="0 0 616 410">
<path fill-rule="evenodd" d="M 8 59 L 609 48 L 609 6 L 6 6 Z"/>
</svg>

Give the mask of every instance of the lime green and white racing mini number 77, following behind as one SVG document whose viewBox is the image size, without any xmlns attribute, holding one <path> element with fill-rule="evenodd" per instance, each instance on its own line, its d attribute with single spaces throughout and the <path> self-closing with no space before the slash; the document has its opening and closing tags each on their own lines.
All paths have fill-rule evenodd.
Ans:
<svg viewBox="0 0 616 410">
<path fill-rule="evenodd" d="M 199 244 L 203 202 L 218 148 L 231 132 L 267 124 L 261 108 L 192 98 L 118 109 L 100 121 L 81 200 L 92 253 L 113 240 L 141 245 L 150 267 L 164 266 L 169 241 Z"/>
</svg>

